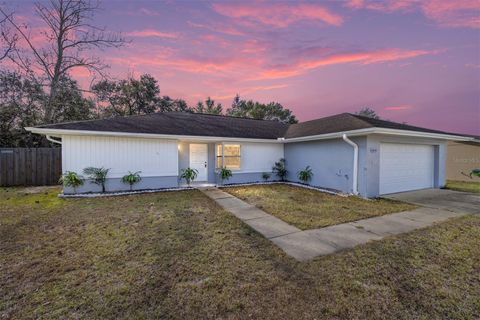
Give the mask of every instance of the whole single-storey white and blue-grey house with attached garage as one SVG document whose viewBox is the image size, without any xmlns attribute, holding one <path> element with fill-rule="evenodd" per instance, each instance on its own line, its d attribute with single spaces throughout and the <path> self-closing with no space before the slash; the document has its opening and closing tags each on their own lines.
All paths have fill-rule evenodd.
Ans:
<svg viewBox="0 0 480 320">
<path fill-rule="evenodd" d="M 142 172 L 137 189 L 177 187 L 187 167 L 198 170 L 199 182 L 216 183 L 223 166 L 233 172 L 228 183 L 262 181 L 285 158 L 289 181 L 309 165 L 312 185 L 364 197 L 443 187 L 447 141 L 472 139 L 349 113 L 286 125 L 172 112 L 26 129 L 61 138 L 64 172 L 110 168 L 108 191 L 128 189 L 121 183 L 128 171 Z"/>
</svg>

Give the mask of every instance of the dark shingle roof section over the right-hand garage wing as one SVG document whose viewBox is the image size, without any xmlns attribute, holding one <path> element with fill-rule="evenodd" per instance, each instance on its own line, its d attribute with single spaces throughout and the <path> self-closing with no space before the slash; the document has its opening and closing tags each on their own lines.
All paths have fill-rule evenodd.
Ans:
<svg viewBox="0 0 480 320">
<path fill-rule="evenodd" d="M 447 132 L 415 127 L 407 124 L 373 119 L 351 113 L 341 113 L 330 117 L 301 122 L 290 125 L 285 138 L 298 138 L 327 134 L 334 132 L 367 129 L 367 128 L 388 128 L 398 130 L 420 131 L 428 133 L 446 134 Z"/>
</svg>

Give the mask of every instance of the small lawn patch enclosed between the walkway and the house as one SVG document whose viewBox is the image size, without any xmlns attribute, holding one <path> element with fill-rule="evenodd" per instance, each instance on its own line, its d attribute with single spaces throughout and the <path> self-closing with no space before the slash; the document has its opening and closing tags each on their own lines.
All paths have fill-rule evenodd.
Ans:
<svg viewBox="0 0 480 320">
<path fill-rule="evenodd" d="M 341 197 L 287 184 L 252 185 L 222 190 L 302 230 L 416 208 L 399 201 Z"/>
</svg>

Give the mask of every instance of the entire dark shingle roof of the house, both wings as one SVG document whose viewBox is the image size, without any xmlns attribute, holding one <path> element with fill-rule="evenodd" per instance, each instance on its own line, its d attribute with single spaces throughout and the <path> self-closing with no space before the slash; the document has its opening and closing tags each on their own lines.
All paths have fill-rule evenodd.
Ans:
<svg viewBox="0 0 480 320">
<path fill-rule="evenodd" d="M 42 129 L 51 129 L 89 131 L 90 133 L 115 132 L 122 134 L 134 133 L 275 140 L 278 138 L 288 140 L 312 137 L 360 129 L 394 129 L 426 134 L 464 136 L 392 121 L 373 119 L 351 113 L 342 113 L 288 125 L 273 120 L 256 120 L 200 113 L 166 112 L 129 117 L 113 117 L 101 120 L 65 122 L 27 129 L 37 133 L 42 133 Z M 472 139 L 471 136 L 469 138 Z"/>
</svg>

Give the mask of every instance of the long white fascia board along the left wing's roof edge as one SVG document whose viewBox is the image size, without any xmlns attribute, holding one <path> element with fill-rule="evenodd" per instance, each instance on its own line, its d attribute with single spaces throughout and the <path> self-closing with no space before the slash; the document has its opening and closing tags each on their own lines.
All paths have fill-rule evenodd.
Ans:
<svg viewBox="0 0 480 320">
<path fill-rule="evenodd" d="M 207 137 L 207 136 L 182 136 L 171 134 L 150 134 L 150 133 L 131 133 L 131 132 L 114 132 L 114 131 L 88 131 L 88 130 L 66 130 L 66 129 L 49 129 L 26 127 L 25 130 L 32 133 L 44 134 L 53 137 L 61 137 L 64 135 L 71 136 L 108 136 L 108 137 L 126 137 L 126 138 L 146 138 L 146 139 L 167 139 L 179 141 L 200 141 L 200 142 L 268 142 L 282 143 L 278 139 L 248 139 L 248 138 L 231 138 L 231 137 Z"/>
</svg>

